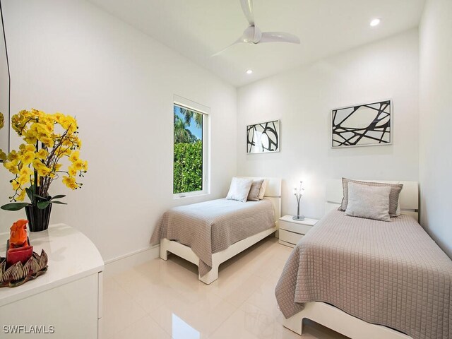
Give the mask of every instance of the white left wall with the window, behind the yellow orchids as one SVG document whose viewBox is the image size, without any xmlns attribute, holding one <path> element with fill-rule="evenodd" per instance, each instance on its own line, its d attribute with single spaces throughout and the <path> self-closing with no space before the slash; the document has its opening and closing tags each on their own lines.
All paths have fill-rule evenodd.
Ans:
<svg viewBox="0 0 452 339">
<path fill-rule="evenodd" d="M 236 89 L 147 35 L 77 0 L 4 0 L 11 112 L 75 115 L 89 172 L 52 222 L 93 239 L 105 260 L 149 246 L 157 218 L 176 204 L 225 196 L 236 171 Z M 172 103 L 208 106 L 211 194 L 172 198 Z M 13 140 L 17 140 L 13 136 Z M 0 203 L 11 179 L 0 171 Z M 0 211 L 0 232 L 25 212 Z"/>
</svg>

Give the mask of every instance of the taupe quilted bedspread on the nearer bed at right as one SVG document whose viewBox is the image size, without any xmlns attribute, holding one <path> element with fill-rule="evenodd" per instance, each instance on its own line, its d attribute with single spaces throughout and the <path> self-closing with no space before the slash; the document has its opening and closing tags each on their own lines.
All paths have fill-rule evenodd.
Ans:
<svg viewBox="0 0 452 339">
<path fill-rule="evenodd" d="M 452 261 L 411 217 L 333 211 L 290 254 L 275 295 L 286 318 L 327 302 L 412 338 L 452 338 Z"/>
</svg>

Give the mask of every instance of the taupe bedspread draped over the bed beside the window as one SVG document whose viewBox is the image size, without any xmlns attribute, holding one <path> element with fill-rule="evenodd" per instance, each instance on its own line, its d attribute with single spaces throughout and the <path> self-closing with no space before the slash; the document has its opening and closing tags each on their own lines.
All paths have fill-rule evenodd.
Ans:
<svg viewBox="0 0 452 339">
<path fill-rule="evenodd" d="M 202 277 L 212 269 L 213 253 L 271 227 L 275 227 L 271 201 L 217 199 L 167 210 L 150 243 L 167 238 L 191 247 L 199 258 Z"/>
</svg>

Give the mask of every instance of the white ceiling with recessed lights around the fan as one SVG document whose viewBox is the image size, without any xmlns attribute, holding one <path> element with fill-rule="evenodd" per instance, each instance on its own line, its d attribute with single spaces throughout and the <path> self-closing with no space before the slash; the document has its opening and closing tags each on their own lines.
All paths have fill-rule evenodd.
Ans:
<svg viewBox="0 0 452 339">
<path fill-rule="evenodd" d="M 254 0 L 262 31 L 290 32 L 301 44 L 236 44 L 211 57 L 248 25 L 239 0 L 89 1 L 235 86 L 415 28 L 424 7 L 424 0 Z M 382 18 L 375 28 L 373 18 Z"/>
</svg>

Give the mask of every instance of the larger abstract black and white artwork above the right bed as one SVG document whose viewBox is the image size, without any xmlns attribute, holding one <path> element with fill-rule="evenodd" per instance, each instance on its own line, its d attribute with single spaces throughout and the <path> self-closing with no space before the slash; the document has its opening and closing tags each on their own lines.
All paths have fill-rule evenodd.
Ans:
<svg viewBox="0 0 452 339">
<path fill-rule="evenodd" d="M 391 144 L 391 100 L 331 112 L 333 148 Z"/>
</svg>

